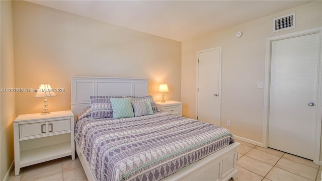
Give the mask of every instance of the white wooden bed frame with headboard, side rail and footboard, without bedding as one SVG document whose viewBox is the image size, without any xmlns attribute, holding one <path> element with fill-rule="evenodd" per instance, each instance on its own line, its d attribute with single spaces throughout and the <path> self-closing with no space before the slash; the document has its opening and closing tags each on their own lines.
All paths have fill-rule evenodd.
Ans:
<svg viewBox="0 0 322 181">
<path fill-rule="evenodd" d="M 71 76 L 71 111 L 78 115 L 90 106 L 89 96 L 147 96 L 144 78 Z M 89 180 L 96 180 L 81 149 L 76 153 Z M 192 163 L 163 180 L 229 180 L 237 178 L 237 147 L 233 143 Z"/>
</svg>

